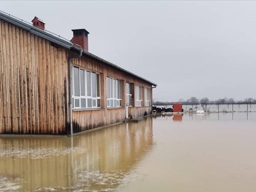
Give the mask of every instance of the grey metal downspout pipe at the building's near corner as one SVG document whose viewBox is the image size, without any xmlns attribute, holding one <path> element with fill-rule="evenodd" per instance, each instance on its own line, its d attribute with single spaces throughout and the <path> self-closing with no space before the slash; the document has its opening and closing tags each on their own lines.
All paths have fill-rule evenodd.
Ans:
<svg viewBox="0 0 256 192">
<path fill-rule="evenodd" d="M 70 120 L 70 136 L 73 136 L 73 114 L 72 114 L 72 59 L 82 57 L 82 49 L 79 50 L 79 55 L 72 55 L 68 57 L 68 77 L 69 77 L 69 120 Z"/>
</svg>

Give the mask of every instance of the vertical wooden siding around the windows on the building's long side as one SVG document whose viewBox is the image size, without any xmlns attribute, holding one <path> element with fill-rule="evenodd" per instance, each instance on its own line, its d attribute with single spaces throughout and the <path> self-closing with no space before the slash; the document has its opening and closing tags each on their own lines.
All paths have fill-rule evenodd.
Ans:
<svg viewBox="0 0 256 192">
<path fill-rule="evenodd" d="M 70 54 L 74 54 L 74 53 L 70 53 Z M 104 109 L 73 112 L 74 133 L 77 133 L 80 131 L 86 131 L 96 127 L 106 126 L 109 124 L 114 124 L 117 122 L 124 121 L 126 119 L 126 112 L 124 108 L 124 105 L 126 103 L 125 100 L 123 100 L 122 102 L 123 108 L 107 108 L 106 107 L 107 106 L 106 105 L 107 84 L 105 79 L 107 78 L 107 76 L 124 80 L 124 82 L 127 81 L 135 85 L 143 86 L 148 89 L 151 89 L 152 87 L 151 84 L 144 82 L 143 80 L 132 77 L 124 72 L 118 71 L 114 68 L 111 68 L 110 66 L 104 65 L 103 63 L 101 63 L 100 61 L 97 61 L 96 59 L 92 59 L 86 56 L 83 56 L 82 58 L 73 59 L 72 65 L 79 66 L 81 68 L 84 68 L 85 70 L 91 70 L 94 72 L 101 73 L 102 74 L 101 78 L 104 79 L 103 93 L 105 93 L 103 96 L 101 95 L 101 99 L 104 102 L 103 106 L 105 106 Z M 123 83 L 122 89 L 125 90 L 125 83 Z M 126 92 L 123 91 L 122 94 L 123 94 L 122 99 L 126 99 Z M 150 95 L 150 98 L 151 98 L 151 95 Z M 130 108 L 130 110 L 133 118 L 143 117 L 145 115 L 151 114 L 151 106 L 133 107 L 133 108 Z"/>
</svg>

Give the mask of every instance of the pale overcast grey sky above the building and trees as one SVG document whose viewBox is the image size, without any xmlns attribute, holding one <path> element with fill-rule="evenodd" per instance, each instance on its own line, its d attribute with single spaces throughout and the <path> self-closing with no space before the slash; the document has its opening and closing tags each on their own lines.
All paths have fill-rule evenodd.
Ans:
<svg viewBox="0 0 256 192">
<path fill-rule="evenodd" d="M 1 1 L 0 9 L 72 38 L 156 82 L 153 98 L 256 98 L 255 1 Z"/>
</svg>

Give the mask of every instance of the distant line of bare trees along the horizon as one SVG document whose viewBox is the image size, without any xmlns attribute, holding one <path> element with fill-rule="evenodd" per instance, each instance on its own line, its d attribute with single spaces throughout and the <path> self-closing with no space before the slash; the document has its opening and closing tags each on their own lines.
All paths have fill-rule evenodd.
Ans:
<svg viewBox="0 0 256 192">
<path fill-rule="evenodd" d="M 254 98 L 245 98 L 244 100 L 235 101 L 234 98 L 221 98 L 217 100 L 210 100 L 207 97 L 204 97 L 202 99 L 198 99 L 196 97 L 191 97 L 187 100 L 185 99 L 179 99 L 179 101 L 170 102 L 170 101 L 158 101 L 157 99 L 153 99 L 153 103 L 201 103 L 201 104 L 207 104 L 207 103 L 256 103 L 256 99 Z"/>
</svg>

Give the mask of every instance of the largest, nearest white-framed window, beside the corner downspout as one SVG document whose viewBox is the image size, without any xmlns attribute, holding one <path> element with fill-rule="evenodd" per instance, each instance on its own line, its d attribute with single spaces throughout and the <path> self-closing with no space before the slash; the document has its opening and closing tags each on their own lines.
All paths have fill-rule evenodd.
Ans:
<svg viewBox="0 0 256 192">
<path fill-rule="evenodd" d="M 100 74 L 73 66 L 73 108 L 100 107 Z"/>
</svg>

